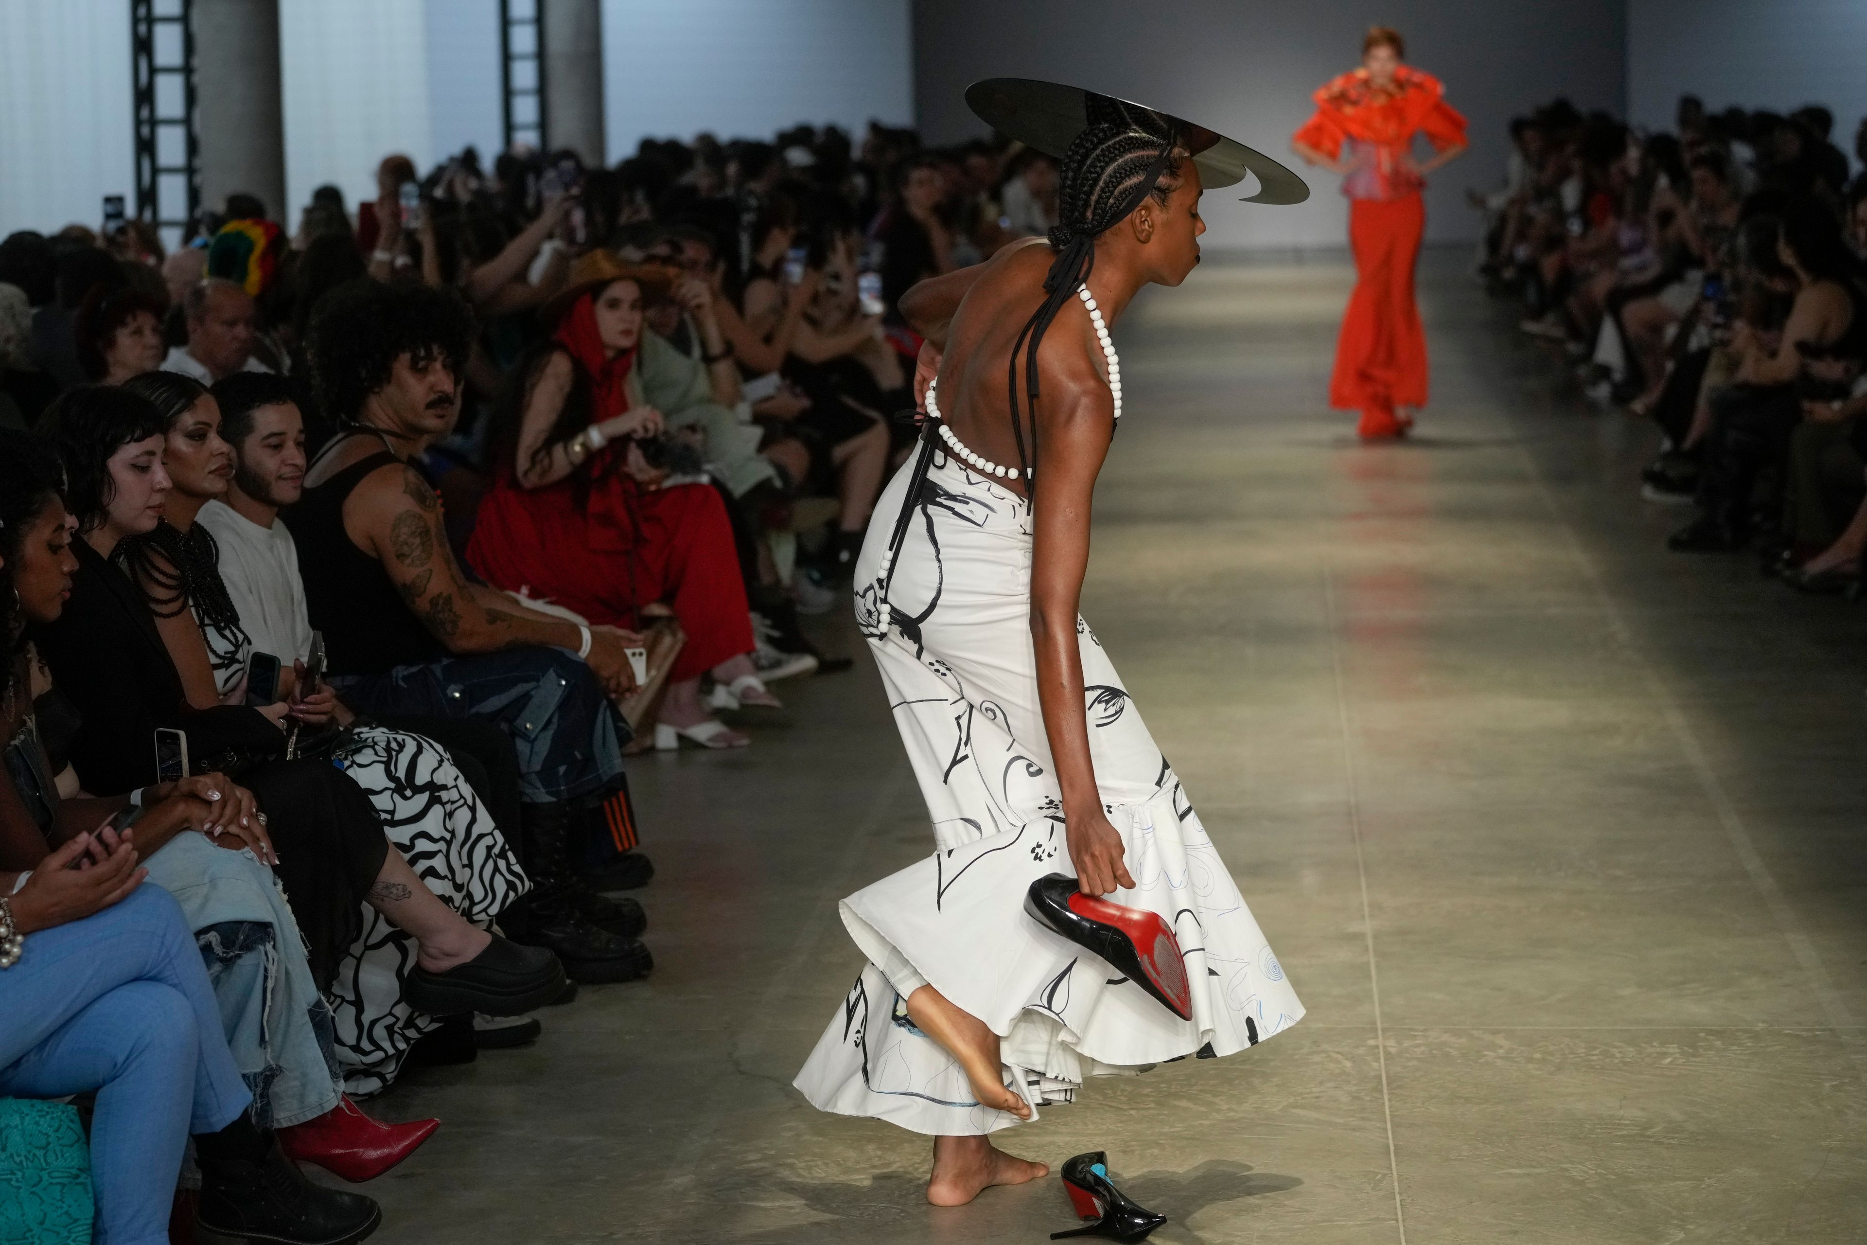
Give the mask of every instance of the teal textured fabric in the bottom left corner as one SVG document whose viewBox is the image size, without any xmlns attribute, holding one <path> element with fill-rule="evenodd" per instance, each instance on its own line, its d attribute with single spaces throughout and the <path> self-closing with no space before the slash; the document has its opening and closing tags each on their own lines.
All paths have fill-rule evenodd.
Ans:
<svg viewBox="0 0 1867 1245">
<path fill-rule="evenodd" d="M 0 1245 L 88 1245 L 91 1204 L 77 1109 L 0 1098 Z"/>
</svg>

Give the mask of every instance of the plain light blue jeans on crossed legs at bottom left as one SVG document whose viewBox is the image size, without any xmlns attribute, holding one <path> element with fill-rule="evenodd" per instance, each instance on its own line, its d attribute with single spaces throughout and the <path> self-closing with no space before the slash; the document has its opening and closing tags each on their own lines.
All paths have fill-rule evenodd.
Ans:
<svg viewBox="0 0 1867 1245">
<path fill-rule="evenodd" d="M 0 969 L 0 1096 L 97 1090 L 95 1245 L 166 1245 L 190 1133 L 218 1133 L 252 1096 L 220 1036 L 194 933 L 159 887 L 26 935 Z"/>
</svg>

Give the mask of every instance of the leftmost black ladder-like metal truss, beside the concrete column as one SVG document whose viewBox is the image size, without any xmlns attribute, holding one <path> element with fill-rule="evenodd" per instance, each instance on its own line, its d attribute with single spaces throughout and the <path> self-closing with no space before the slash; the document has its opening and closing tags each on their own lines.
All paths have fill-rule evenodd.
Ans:
<svg viewBox="0 0 1867 1245">
<path fill-rule="evenodd" d="M 202 205 L 194 123 L 194 0 L 131 0 L 136 101 L 136 215 L 175 245 Z"/>
</svg>

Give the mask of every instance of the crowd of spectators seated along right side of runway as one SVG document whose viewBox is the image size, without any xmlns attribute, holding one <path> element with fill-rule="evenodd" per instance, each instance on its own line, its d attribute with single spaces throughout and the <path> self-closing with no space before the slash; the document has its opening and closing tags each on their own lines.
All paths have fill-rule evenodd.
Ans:
<svg viewBox="0 0 1867 1245">
<path fill-rule="evenodd" d="M 1639 133 L 1566 101 L 1510 123 L 1482 273 L 1589 398 L 1658 426 L 1641 495 L 1695 506 L 1678 553 L 1755 547 L 1802 592 L 1867 553 L 1867 119 L 1678 101 Z"/>
</svg>

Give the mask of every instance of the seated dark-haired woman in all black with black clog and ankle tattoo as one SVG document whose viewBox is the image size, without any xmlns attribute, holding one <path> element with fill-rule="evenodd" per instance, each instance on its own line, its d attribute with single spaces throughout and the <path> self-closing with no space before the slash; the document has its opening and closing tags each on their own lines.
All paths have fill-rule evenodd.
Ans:
<svg viewBox="0 0 1867 1245">
<path fill-rule="evenodd" d="M 405 982 L 416 1010 L 497 1015 L 554 999 L 564 974 L 549 952 L 513 946 L 461 920 L 390 849 L 357 782 L 323 760 L 282 758 L 291 706 L 250 707 L 237 694 L 217 704 L 198 635 L 202 651 L 187 670 L 177 666 L 172 653 L 181 644 L 172 650 L 170 640 L 192 616 L 185 603 L 151 607 L 149 590 L 174 599 L 181 573 L 174 562 L 146 556 L 147 547 L 136 541 L 161 525 L 170 485 L 164 418 L 155 405 L 127 388 L 80 386 L 60 398 L 52 414 L 80 539 L 71 541 L 77 571 L 69 601 L 35 635 L 80 717 L 67 754 L 84 790 L 129 793 L 159 778 L 155 730 L 179 730 L 202 769 L 239 765 L 254 795 L 252 818 L 267 818 L 260 825 L 278 844 L 267 857 L 291 900 L 319 991 L 330 989 L 351 956 L 368 903 L 420 944 Z M 151 569 L 166 573 L 166 588 L 149 581 Z"/>
</svg>

